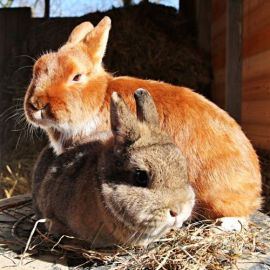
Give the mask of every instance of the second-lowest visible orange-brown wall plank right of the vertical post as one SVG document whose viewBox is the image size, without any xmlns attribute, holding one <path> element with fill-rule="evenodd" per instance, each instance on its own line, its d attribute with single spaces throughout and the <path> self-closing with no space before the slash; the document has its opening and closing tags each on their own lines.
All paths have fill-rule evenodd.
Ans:
<svg viewBox="0 0 270 270">
<path fill-rule="evenodd" d="M 270 126 L 270 96 L 268 100 L 243 101 L 242 120 L 245 124 Z M 270 134 L 268 136 L 270 138 Z"/>
</svg>

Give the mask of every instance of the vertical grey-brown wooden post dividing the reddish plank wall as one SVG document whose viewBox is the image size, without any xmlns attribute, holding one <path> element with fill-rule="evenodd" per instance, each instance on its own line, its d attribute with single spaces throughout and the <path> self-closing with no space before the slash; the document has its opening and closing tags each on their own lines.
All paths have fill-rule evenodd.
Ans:
<svg viewBox="0 0 270 270">
<path fill-rule="evenodd" d="M 241 122 L 243 0 L 228 1 L 226 111 Z"/>
</svg>

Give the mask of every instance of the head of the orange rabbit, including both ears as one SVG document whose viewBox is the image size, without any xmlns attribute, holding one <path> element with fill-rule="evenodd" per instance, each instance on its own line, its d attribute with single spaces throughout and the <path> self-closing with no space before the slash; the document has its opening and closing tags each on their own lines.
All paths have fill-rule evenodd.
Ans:
<svg viewBox="0 0 270 270">
<path fill-rule="evenodd" d="M 91 133 L 99 124 L 96 115 L 106 91 L 104 78 L 110 76 L 102 67 L 110 27 L 108 17 L 96 27 L 84 22 L 57 52 L 36 61 L 24 109 L 27 120 L 45 129 L 51 142 Z M 53 146 L 61 152 L 61 145 Z"/>
</svg>

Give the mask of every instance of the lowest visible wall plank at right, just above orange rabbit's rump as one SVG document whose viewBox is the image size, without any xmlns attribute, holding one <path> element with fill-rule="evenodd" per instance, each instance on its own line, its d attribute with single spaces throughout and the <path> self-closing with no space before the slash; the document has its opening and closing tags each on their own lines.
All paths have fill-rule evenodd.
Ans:
<svg viewBox="0 0 270 270">
<path fill-rule="evenodd" d="M 262 126 L 242 122 L 242 128 L 254 146 L 270 150 L 270 125 Z"/>
</svg>

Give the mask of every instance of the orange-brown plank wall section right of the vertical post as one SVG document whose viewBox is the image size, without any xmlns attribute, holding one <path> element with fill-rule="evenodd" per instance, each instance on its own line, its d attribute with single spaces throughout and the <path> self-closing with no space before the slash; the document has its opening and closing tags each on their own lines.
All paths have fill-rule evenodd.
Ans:
<svg viewBox="0 0 270 270">
<path fill-rule="evenodd" d="M 270 1 L 244 0 L 242 127 L 270 150 Z"/>
</svg>

